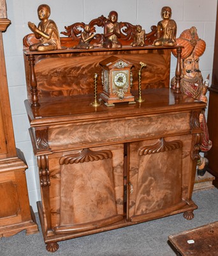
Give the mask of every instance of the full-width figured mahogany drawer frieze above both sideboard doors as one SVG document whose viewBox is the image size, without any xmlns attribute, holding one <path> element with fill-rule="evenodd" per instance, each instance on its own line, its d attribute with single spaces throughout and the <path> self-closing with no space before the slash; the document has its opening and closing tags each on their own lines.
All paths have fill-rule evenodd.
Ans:
<svg viewBox="0 0 218 256">
<path fill-rule="evenodd" d="M 185 112 L 53 125 L 48 129 L 48 144 L 51 150 L 57 150 L 139 140 L 161 136 L 163 132 L 166 135 L 185 133 L 190 130 L 189 118 L 190 113 Z"/>
</svg>

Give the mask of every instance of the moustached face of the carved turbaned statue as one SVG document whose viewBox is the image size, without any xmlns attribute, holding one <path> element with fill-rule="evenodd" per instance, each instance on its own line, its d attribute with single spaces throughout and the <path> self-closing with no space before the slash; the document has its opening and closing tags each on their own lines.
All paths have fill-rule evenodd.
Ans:
<svg viewBox="0 0 218 256">
<path fill-rule="evenodd" d="M 191 55 L 188 58 L 182 60 L 182 74 L 185 78 L 194 78 L 198 76 L 199 72 L 198 56 Z"/>
</svg>

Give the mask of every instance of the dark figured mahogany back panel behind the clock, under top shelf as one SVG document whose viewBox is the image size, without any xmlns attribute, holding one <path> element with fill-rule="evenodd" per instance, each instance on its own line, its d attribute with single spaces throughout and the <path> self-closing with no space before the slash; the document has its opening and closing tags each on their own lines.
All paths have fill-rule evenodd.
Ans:
<svg viewBox="0 0 218 256">
<path fill-rule="evenodd" d="M 122 49 L 120 51 L 87 51 L 65 54 L 34 55 L 38 97 L 58 97 L 93 94 L 94 74 L 98 74 L 98 93 L 102 92 L 101 66 L 99 62 L 116 55 L 133 63 L 133 88 L 138 90 L 140 61 L 147 64 L 142 72 L 142 88 L 169 88 L 170 49 Z M 29 62 L 25 58 L 25 73 L 28 98 L 31 99 L 29 84 Z"/>
</svg>

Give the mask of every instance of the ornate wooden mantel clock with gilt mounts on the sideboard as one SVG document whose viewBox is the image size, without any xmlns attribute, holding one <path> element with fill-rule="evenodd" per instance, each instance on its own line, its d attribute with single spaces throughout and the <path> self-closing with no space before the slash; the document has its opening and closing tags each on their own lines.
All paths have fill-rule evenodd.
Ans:
<svg viewBox="0 0 218 256">
<path fill-rule="evenodd" d="M 133 77 L 131 74 L 132 63 L 116 56 L 106 58 L 99 63 L 102 67 L 103 93 L 100 99 L 106 102 L 106 106 L 114 106 L 116 102 L 134 102 L 131 94 Z"/>
</svg>

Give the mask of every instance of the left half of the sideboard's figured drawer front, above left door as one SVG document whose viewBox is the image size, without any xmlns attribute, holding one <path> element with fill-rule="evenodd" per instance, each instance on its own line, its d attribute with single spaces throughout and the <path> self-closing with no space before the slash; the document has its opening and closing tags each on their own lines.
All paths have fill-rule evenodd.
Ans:
<svg viewBox="0 0 218 256">
<path fill-rule="evenodd" d="M 54 125 L 48 129 L 48 143 L 54 148 L 78 148 L 84 145 L 99 145 L 107 141 L 124 138 L 125 122 L 106 120 L 101 122 L 80 122 L 78 124 Z"/>
</svg>

